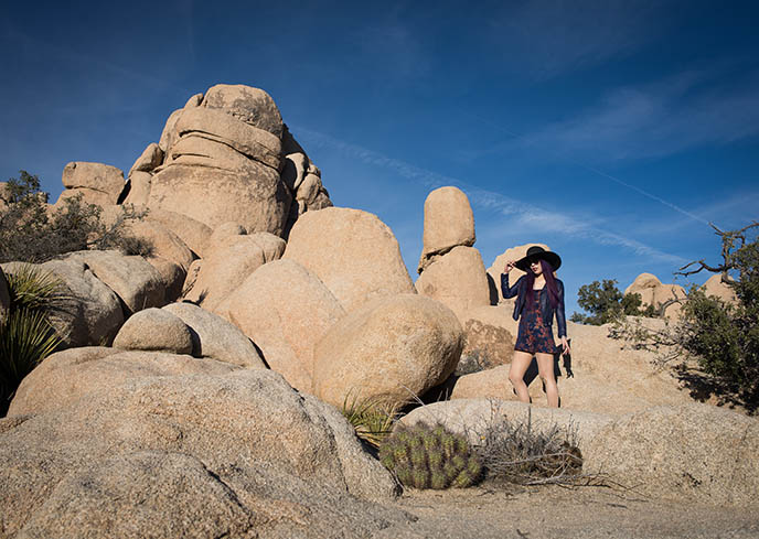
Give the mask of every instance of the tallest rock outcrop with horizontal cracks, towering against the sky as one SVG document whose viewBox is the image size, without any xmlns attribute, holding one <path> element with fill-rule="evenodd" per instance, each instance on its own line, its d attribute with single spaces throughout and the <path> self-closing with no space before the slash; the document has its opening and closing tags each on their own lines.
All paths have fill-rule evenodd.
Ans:
<svg viewBox="0 0 759 539">
<path fill-rule="evenodd" d="M 211 228 L 234 220 L 287 236 L 302 213 L 332 205 L 320 176 L 266 91 L 216 85 L 172 112 L 122 198 Z"/>
</svg>

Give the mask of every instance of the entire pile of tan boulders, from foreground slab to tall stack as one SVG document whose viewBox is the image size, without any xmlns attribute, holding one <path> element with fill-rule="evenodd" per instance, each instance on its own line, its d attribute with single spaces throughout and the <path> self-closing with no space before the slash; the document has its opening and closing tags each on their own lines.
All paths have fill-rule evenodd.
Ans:
<svg viewBox="0 0 759 539">
<path fill-rule="evenodd" d="M 383 505 L 395 478 L 339 409 L 430 396 L 446 400 L 403 421 L 474 444 L 502 420 L 558 424 L 577 430 L 588 471 L 642 493 L 756 505 L 756 419 L 694 405 L 607 327 L 568 323 L 563 409 L 544 408 L 534 376 L 535 406 L 514 402 L 500 276 L 547 246 L 510 248 L 485 270 L 467 195 L 441 187 L 425 202 L 414 283 L 377 216 L 332 207 L 260 89 L 190 98 L 126 184 L 74 162 L 64 185 L 58 203 L 82 195 L 107 223 L 147 212 L 129 233 L 154 248 L 38 265 L 61 281 L 63 343 L 0 419 L 2 537 L 402 537 L 413 518 Z M 0 323 L 19 268 L 0 268 Z M 643 274 L 628 291 L 659 304 L 682 289 Z"/>
</svg>

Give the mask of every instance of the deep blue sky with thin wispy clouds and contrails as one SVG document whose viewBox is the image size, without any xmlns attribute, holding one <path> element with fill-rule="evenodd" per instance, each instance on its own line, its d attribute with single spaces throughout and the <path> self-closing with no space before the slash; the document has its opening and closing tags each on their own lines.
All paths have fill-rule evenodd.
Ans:
<svg viewBox="0 0 759 539">
<path fill-rule="evenodd" d="M 485 266 L 562 255 L 568 314 L 581 284 L 673 282 L 717 261 L 709 222 L 759 218 L 756 2 L 6 3 L 0 179 L 28 170 L 53 200 L 68 161 L 127 171 L 227 83 L 274 97 L 334 204 L 391 226 L 414 278 L 441 185 L 470 196 Z"/>
</svg>

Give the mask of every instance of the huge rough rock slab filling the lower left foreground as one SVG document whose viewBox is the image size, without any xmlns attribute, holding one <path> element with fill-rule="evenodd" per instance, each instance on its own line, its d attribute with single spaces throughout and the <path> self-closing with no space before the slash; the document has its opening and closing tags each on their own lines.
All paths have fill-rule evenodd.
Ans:
<svg viewBox="0 0 759 539">
<path fill-rule="evenodd" d="M 0 457 L 11 537 L 357 538 L 410 518 L 366 502 L 395 483 L 339 412 L 269 370 L 133 379 L 2 419 Z"/>
</svg>

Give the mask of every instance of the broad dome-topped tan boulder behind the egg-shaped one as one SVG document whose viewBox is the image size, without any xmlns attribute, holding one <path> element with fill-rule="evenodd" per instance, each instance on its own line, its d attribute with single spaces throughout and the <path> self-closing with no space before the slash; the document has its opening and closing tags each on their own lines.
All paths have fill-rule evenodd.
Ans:
<svg viewBox="0 0 759 539">
<path fill-rule="evenodd" d="M 282 258 L 317 276 L 349 312 L 374 298 L 415 292 L 393 231 L 360 209 L 303 214 Z"/>
</svg>

